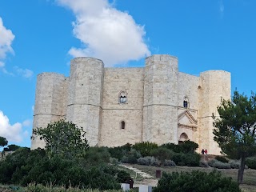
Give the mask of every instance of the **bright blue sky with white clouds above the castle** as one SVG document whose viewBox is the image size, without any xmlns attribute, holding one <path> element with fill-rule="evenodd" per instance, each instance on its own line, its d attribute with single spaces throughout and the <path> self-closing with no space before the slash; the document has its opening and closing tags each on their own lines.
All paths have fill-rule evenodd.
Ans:
<svg viewBox="0 0 256 192">
<path fill-rule="evenodd" d="M 69 74 L 70 59 L 143 66 L 171 54 L 179 70 L 227 70 L 250 94 L 256 64 L 254 0 L 0 1 L 0 135 L 30 146 L 36 76 Z"/>
</svg>

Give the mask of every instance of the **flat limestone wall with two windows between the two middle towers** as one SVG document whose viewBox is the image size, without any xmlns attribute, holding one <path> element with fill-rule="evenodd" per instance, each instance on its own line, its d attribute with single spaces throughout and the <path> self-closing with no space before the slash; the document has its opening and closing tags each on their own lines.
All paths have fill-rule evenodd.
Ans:
<svg viewBox="0 0 256 192">
<path fill-rule="evenodd" d="M 142 142 L 143 68 L 105 68 L 101 146 Z M 118 95 L 126 91 L 127 102 Z M 126 123 L 122 129 L 121 122 Z"/>
</svg>

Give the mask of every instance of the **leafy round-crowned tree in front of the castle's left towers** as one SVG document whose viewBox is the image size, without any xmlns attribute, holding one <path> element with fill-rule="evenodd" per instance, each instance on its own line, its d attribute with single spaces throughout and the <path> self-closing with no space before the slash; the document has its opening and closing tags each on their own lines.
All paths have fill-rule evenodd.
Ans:
<svg viewBox="0 0 256 192">
<path fill-rule="evenodd" d="M 48 124 L 46 128 L 34 129 L 33 134 L 46 142 L 46 152 L 50 157 L 54 154 L 69 159 L 78 157 L 85 154 L 89 147 L 86 132 L 72 122 L 60 120 Z"/>
</svg>

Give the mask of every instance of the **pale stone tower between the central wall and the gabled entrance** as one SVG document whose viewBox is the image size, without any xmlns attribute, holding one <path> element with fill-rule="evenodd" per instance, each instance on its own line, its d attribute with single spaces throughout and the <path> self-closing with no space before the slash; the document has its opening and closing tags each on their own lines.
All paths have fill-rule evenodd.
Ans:
<svg viewBox="0 0 256 192">
<path fill-rule="evenodd" d="M 142 140 L 163 144 L 178 142 L 178 58 L 146 58 Z"/>
</svg>

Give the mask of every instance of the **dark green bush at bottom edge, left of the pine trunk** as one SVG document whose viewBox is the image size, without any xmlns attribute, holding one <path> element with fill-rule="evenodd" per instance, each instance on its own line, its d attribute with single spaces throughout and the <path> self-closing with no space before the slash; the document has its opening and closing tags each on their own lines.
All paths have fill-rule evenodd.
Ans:
<svg viewBox="0 0 256 192">
<path fill-rule="evenodd" d="M 237 182 L 233 182 L 231 178 L 222 177 L 222 174 L 215 170 L 209 174 L 200 171 L 171 174 L 164 172 L 153 191 L 241 192 Z"/>
</svg>

